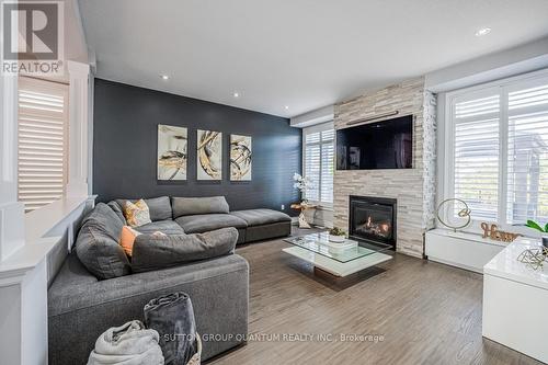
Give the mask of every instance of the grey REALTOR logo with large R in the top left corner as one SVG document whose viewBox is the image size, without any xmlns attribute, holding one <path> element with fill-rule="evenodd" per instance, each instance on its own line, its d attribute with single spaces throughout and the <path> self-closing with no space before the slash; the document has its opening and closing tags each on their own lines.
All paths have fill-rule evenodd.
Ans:
<svg viewBox="0 0 548 365">
<path fill-rule="evenodd" d="M 2 73 L 62 75 L 62 1 L 2 1 Z"/>
</svg>

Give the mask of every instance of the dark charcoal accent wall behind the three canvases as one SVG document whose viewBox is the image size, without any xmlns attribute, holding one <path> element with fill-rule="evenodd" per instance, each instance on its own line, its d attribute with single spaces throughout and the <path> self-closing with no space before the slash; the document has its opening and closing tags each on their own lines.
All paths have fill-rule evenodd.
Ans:
<svg viewBox="0 0 548 365">
<path fill-rule="evenodd" d="M 225 195 L 230 208 L 266 207 L 294 215 L 299 195 L 301 130 L 287 118 L 95 79 L 93 193 L 113 198 Z M 158 124 L 189 128 L 186 181 L 157 180 Z M 196 180 L 196 129 L 222 132 L 222 180 Z M 230 134 L 252 137 L 252 180 L 229 181 Z"/>
</svg>

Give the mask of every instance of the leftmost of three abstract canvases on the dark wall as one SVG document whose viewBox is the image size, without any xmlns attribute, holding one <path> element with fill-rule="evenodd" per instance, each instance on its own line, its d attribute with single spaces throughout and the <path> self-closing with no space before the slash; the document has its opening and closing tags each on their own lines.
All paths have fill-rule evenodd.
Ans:
<svg viewBox="0 0 548 365">
<path fill-rule="evenodd" d="M 158 125 L 158 180 L 186 180 L 187 130 Z"/>
</svg>

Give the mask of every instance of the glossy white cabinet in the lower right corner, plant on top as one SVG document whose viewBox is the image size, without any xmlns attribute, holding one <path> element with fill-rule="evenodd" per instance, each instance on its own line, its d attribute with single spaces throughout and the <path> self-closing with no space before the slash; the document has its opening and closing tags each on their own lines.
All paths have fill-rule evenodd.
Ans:
<svg viewBox="0 0 548 365">
<path fill-rule="evenodd" d="M 539 240 L 518 238 L 483 269 L 483 337 L 548 363 L 548 266 L 517 261 Z"/>
</svg>

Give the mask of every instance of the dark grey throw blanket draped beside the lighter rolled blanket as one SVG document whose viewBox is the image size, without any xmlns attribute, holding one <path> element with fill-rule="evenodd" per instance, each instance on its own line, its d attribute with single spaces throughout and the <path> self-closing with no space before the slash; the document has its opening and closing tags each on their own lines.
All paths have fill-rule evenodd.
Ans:
<svg viewBox="0 0 548 365">
<path fill-rule="evenodd" d="M 173 293 L 145 306 L 145 322 L 160 333 L 165 364 L 185 365 L 196 353 L 196 322 L 191 298 Z"/>
</svg>

